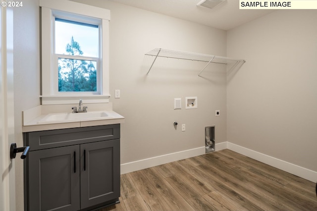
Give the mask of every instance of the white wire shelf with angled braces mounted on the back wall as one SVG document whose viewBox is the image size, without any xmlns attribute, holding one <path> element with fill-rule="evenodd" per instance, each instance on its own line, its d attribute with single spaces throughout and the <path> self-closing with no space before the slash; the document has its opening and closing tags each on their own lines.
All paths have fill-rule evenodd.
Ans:
<svg viewBox="0 0 317 211">
<path fill-rule="evenodd" d="M 240 62 L 245 62 L 244 59 L 234 59 L 234 58 L 229 58 L 224 56 L 215 56 L 215 55 L 209 55 L 209 54 L 203 54 L 203 53 L 192 53 L 192 52 L 186 52 L 186 51 L 168 50 L 168 49 L 162 49 L 162 48 L 155 48 L 147 52 L 145 55 L 155 56 L 155 59 L 147 73 L 148 75 L 157 57 L 208 62 L 208 64 L 204 67 L 204 69 L 198 75 L 200 75 L 210 63 L 220 63 L 220 64 L 235 63 L 234 66 L 236 66 Z"/>
</svg>

